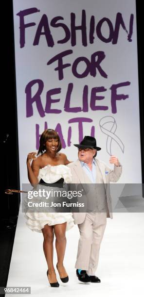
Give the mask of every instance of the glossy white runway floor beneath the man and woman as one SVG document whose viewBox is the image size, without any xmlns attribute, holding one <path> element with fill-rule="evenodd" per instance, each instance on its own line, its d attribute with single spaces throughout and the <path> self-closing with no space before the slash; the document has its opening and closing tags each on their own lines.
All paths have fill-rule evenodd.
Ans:
<svg viewBox="0 0 144 297">
<path fill-rule="evenodd" d="M 63 284 L 57 273 L 60 286 L 51 288 L 46 275 L 43 235 L 27 228 L 20 208 L 7 286 L 30 286 L 33 297 L 144 296 L 143 213 L 115 213 L 113 219 L 107 219 L 96 271 L 101 283 L 83 284 L 78 281 L 74 268 L 79 238 L 78 227 L 75 225 L 66 235 L 64 264 L 70 281 Z M 21 295 L 13 294 L 13 297 L 15 296 Z"/>
</svg>

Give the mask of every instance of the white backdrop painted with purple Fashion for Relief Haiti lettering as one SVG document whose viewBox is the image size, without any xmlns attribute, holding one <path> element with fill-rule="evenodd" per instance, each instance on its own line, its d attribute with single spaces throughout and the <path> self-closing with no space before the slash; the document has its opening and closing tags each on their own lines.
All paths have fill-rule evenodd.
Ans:
<svg viewBox="0 0 144 297">
<path fill-rule="evenodd" d="M 73 144 L 79 143 L 84 135 L 90 135 L 92 132 L 97 146 L 102 148 L 97 158 L 108 164 L 109 156 L 113 154 L 118 156 L 123 164 L 123 175 L 119 182 L 141 182 L 135 0 L 13 0 L 13 5 L 20 183 L 28 182 L 26 157 L 28 152 L 38 150 L 39 135 L 45 128 L 58 129 L 60 136 L 62 133 L 65 147 L 62 151 L 71 161 L 77 159 L 77 149 Z M 83 43 L 86 43 L 87 36 L 87 46 L 82 44 L 81 30 L 76 30 L 76 45 L 72 45 L 73 14 L 75 26 L 80 26 L 82 11 L 85 35 Z M 57 22 L 56 16 L 59 16 Z M 123 23 L 121 22 L 119 28 L 120 18 Z M 65 27 L 61 25 L 56 28 L 59 23 L 65 24 Z M 65 28 L 66 42 L 57 43 L 65 38 Z M 41 34 L 38 35 L 39 33 Z M 50 46 L 50 42 L 53 42 L 53 45 Z M 54 70 L 58 61 L 50 65 L 47 63 L 66 50 L 72 50 L 72 53 L 63 58 L 63 64 L 69 63 L 71 66 L 63 69 L 63 79 L 59 79 L 58 71 Z M 97 63 L 99 66 L 96 68 L 96 74 L 93 73 L 92 76 L 94 62 L 90 64 L 89 61 L 95 52 L 98 59 L 100 54 L 103 57 L 102 61 Z M 91 67 L 91 73 L 88 71 L 83 78 L 75 77 L 72 73 L 72 65 L 74 67 L 73 63 L 79 57 L 85 57 L 83 59 L 86 61 L 78 63 L 76 71 L 79 75 L 87 69 L 86 63 Z M 64 110 L 68 85 L 72 87 L 72 84 L 69 110 L 68 96 L 67 108 Z M 97 93 L 94 89 L 96 87 Z M 50 91 L 52 89 L 53 91 Z M 35 96 L 38 91 L 39 98 Z M 118 98 L 116 94 L 121 96 Z M 122 94 L 127 96 L 123 97 Z M 95 96 L 103 97 L 95 100 Z M 107 106 L 107 109 L 99 110 L 99 106 Z M 77 108 L 76 112 L 70 110 L 74 107 Z M 52 111 L 54 109 L 60 112 Z M 81 118 L 85 118 L 82 123 L 83 135 L 80 125 L 78 126 L 78 120 L 82 120 Z"/>
</svg>

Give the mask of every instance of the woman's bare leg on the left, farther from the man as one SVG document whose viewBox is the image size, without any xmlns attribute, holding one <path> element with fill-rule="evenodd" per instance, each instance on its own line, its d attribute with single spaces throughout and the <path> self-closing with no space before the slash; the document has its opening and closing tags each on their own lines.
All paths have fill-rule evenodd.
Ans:
<svg viewBox="0 0 144 297">
<path fill-rule="evenodd" d="M 56 282 L 56 274 L 54 270 L 53 264 L 53 254 L 54 254 L 54 226 L 45 225 L 44 228 L 41 229 L 44 237 L 43 241 L 43 251 L 45 254 L 45 258 L 48 264 L 49 269 L 49 281 Z"/>
</svg>

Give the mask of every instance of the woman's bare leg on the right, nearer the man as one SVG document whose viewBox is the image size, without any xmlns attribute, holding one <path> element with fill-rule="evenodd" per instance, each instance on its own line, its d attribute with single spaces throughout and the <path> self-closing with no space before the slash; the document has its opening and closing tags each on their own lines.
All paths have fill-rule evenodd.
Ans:
<svg viewBox="0 0 144 297">
<path fill-rule="evenodd" d="M 54 225 L 54 234 L 55 234 L 55 247 L 57 252 L 57 269 L 60 275 L 60 278 L 67 277 L 67 272 L 63 266 L 63 260 L 66 249 L 66 226 L 67 222 L 63 224 Z"/>
</svg>

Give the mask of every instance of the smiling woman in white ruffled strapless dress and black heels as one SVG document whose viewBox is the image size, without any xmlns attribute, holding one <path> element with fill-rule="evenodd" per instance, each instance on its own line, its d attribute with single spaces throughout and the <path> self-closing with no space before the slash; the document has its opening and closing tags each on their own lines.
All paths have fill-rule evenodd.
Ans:
<svg viewBox="0 0 144 297">
<path fill-rule="evenodd" d="M 45 130 L 40 137 L 40 146 L 37 153 L 31 152 L 27 157 L 28 179 L 35 186 L 39 183 L 63 181 L 71 182 L 71 171 L 67 164 L 71 163 L 67 156 L 59 153 L 62 148 L 60 138 L 53 129 Z M 32 165 L 31 165 L 31 161 Z M 72 213 L 26 213 L 26 224 L 32 231 L 42 232 L 44 237 L 43 250 L 48 264 L 47 276 L 52 287 L 59 287 L 53 264 L 53 242 L 57 252 L 57 270 L 61 281 L 69 281 L 63 265 L 66 248 L 66 230 L 73 227 Z"/>
</svg>

